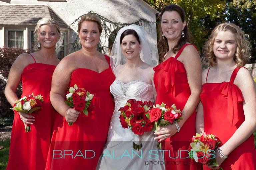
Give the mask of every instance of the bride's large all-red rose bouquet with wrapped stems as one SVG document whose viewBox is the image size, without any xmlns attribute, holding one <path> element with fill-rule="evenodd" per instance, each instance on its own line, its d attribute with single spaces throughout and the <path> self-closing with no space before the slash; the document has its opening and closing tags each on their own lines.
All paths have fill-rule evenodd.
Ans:
<svg viewBox="0 0 256 170">
<path fill-rule="evenodd" d="M 120 114 L 120 123 L 123 128 L 130 128 L 134 133 L 133 148 L 139 150 L 142 148 L 142 135 L 146 131 L 151 131 L 153 124 L 145 116 L 153 106 L 151 101 L 142 102 L 135 99 L 129 99 L 124 107 L 118 111 Z"/>
</svg>

